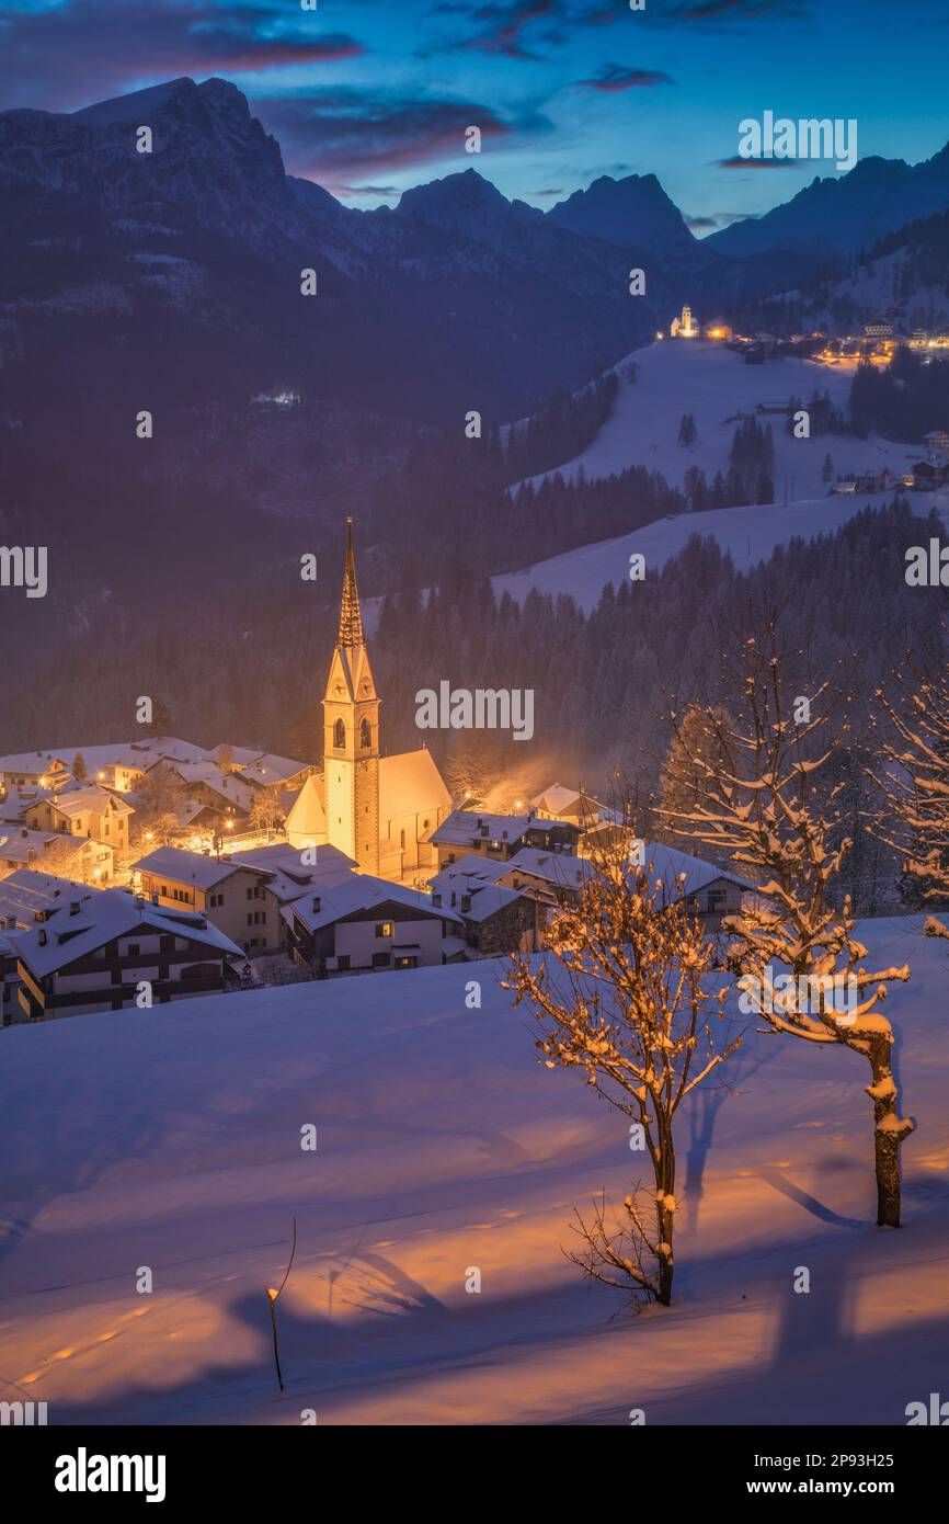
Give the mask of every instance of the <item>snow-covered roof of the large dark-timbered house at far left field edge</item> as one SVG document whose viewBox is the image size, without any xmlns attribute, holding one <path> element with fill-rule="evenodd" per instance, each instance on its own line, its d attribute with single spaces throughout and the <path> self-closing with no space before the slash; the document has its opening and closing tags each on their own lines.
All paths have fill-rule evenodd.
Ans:
<svg viewBox="0 0 949 1524">
<path fill-rule="evenodd" d="M 82 904 L 79 914 L 56 917 L 46 927 L 26 931 L 17 940 L 17 954 L 37 978 L 43 978 L 139 928 L 189 937 L 228 957 L 244 957 L 241 948 L 206 916 L 151 905 L 126 888 L 104 888 Z"/>
</svg>

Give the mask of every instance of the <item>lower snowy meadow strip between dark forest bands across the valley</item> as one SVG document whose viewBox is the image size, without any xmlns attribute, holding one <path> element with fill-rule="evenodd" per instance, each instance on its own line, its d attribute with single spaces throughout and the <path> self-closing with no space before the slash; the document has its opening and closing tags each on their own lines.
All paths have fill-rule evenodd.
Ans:
<svg viewBox="0 0 949 1524">
<path fill-rule="evenodd" d="M 893 447 L 897 448 L 897 447 Z M 510 593 L 522 602 L 532 588 L 541 593 L 567 593 L 579 607 L 590 613 L 596 608 L 608 582 L 618 585 L 629 576 L 629 558 L 634 552 L 646 556 L 646 568 L 655 572 L 670 556 L 684 550 L 692 535 L 710 536 L 727 550 L 740 572 L 766 561 L 777 546 L 786 546 L 795 536 L 815 539 L 832 535 L 848 518 L 867 506 L 880 506 L 888 495 L 876 497 L 820 497 L 810 503 L 792 503 L 788 507 L 760 506 L 722 507 L 708 514 L 676 514 L 644 529 L 614 539 L 597 539 L 594 544 L 565 550 L 564 555 L 538 561 L 522 572 L 507 572 L 492 578 L 498 597 Z M 914 492 L 912 506 L 919 514 L 937 507 L 949 524 L 949 492 Z"/>
</svg>

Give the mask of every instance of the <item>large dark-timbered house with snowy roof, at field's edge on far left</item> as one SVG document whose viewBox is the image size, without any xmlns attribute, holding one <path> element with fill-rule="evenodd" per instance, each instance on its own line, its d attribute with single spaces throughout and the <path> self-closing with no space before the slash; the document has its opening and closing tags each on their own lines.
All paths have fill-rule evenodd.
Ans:
<svg viewBox="0 0 949 1524">
<path fill-rule="evenodd" d="M 5 933 L 17 957 L 20 1020 L 122 1010 L 216 994 L 241 948 L 206 916 L 163 910 L 125 888 L 73 899 L 32 931 Z M 6 954 L 5 954 L 6 957 Z"/>
</svg>

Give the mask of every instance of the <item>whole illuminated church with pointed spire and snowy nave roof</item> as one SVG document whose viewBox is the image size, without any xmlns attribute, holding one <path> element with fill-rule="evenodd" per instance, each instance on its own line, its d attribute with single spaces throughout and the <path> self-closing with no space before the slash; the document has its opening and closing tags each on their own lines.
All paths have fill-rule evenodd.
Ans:
<svg viewBox="0 0 949 1524">
<path fill-rule="evenodd" d="M 379 706 L 347 520 L 340 632 L 323 696 L 323 776 L 303 783 L 286 835 L 300 849 L 338 847 L 361 873 L 425 879 L 439 866 L 431 835 L 451 814 L 451 794 L 425 747 L 384 756 Z"/>
</svg>

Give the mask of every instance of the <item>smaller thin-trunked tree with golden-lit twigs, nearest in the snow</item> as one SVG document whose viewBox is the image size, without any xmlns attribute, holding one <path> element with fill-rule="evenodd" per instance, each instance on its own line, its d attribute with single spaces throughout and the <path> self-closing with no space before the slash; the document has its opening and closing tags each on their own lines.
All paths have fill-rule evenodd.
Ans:
<svg viewBox="0 0 949 1524">
<path fill-rule="evenodd" d="M 672 1300 L 676 1186 L 675 1116 L 690 1091 L 740 1044 L 716 1041 L 727 985 L 708 988 L 714 946 L 682 899 L 681 884 L 631 867 L 611 849 L 579 904 L 550 928 L 551 957 L 510 960 L 506 989 L 527 1001 L 544 1027 L 536 1047 L 548 1068 L 576 1068 L 597 1094 L 634 1120 L 652 1166 L 647 1196 L 638 1181 L 625 1219 L 577 1212 L 583 1241 L 570 1259 L 586 1274 L 634 1295 Z"/>
</svg>

